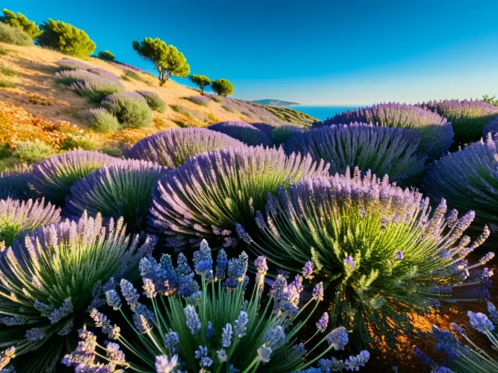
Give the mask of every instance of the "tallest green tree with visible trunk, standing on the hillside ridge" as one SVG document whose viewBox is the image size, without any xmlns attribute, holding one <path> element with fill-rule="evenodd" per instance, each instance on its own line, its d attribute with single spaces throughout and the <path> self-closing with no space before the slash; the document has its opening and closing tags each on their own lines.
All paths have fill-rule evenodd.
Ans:
<svg viewBox="0 0 498 373">
<path fill-rule="evenodd" d="M 159 86 L 164 85 L 170 76 L 185 78 L 190 73 L 183 53 L 159 38 L 145 38 L 141 42 L 133 41 L 131 45 L 136 53 L 154 64 L 159 73 Z"/>
</svg>

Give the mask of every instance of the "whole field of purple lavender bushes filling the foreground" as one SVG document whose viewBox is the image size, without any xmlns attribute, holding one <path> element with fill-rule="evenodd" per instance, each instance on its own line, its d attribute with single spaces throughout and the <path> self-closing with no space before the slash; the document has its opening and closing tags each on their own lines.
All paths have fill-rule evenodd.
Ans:
<svg viewBox="0 0 498 373">
<path fill-rule="evenodd" d="M 119 94 L 104 105 L 147 98 Z M 374 341 L 411 338 L 407 315 L 460 303 L 469 323 L 410 353 L 496 371 L 467 333 L 498 347 L 497 117 L 479 100 L 381 103 L 4 173 L 2 372 L 368 371 Z"/>
</svg>

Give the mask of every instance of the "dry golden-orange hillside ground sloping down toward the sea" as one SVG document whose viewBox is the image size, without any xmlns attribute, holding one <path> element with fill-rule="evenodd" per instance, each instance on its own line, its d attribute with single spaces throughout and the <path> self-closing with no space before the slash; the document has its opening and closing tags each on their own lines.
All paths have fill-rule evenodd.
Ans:
<svg viewBox="0 0 498 373">
<path fill-rule="evenodd" d="M 55 151 L 83 147 L 117 153 L 124 143 L 134 143 L 168 128 L 205 127 L 227 120 L 274 125 L 288 121 L 303 126 L 313 121 L 294 110 L 232 98 L 210 96 L 196 100 L 200 93 L 195 89 L 174 81 L 159 87 L 157 79 L 148 73 L 130 73 L 126 66 L 90 57 L 84 61 L 86 64 L 121 77 L 126 91 L 152 91 L 167 104 L 164 112 L 154 111 L 152 127 L 97 133 L 89 128 L 83 115 L 96 106 L 54 79 L 54 74 L 61 70 L 57 61 L 67 56 L 36 46 L 3 43 L 0 54 L 0 129 L 4 129 L 0 133 L 0 146 L 4 149 L 0 170 L 15 164 L 10 152 L 24 141 L 38 140 Z"/>
</svg>

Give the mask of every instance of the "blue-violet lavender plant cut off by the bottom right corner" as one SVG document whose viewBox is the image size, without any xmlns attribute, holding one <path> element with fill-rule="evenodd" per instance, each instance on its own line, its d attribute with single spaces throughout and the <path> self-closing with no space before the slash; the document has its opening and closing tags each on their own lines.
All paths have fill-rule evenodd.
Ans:
<svg viewBox="0 0 498 373">
<path fill-rule="evenodd" d="M 488 316 L 482 312 L 468 311 L 472 328 L 478 330 L 491 342 L 491 350 L 486 352 L 478 347 L 458 324 L 450 324 L 451 330 L 440 330 L 432 326 L 432 334 L 437 339 L 435 352 L 445 359 L 441 365 L 415 348 L 415 354 L 424 364 L 432 366 L 434 373 L 498 372 L 498 312 L 495 305 L 488 302 Z M 465 344 L 462 344 L 463 341 Z"/>
</svg>

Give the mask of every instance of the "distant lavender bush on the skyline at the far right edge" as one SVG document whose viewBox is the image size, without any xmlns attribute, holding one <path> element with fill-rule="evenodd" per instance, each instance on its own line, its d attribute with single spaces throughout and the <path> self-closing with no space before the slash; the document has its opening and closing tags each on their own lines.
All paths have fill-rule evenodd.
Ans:
<svg viewBox="0 0 498 373">
<path fill-rule="evenodd" d="M 498 107 L 482 100 L 444 100 L 423 102 L 451 122 L 457 144 L 479 140 L 483 127 L 498 116 Z"/>
</svg>

